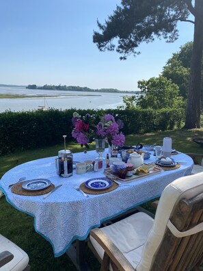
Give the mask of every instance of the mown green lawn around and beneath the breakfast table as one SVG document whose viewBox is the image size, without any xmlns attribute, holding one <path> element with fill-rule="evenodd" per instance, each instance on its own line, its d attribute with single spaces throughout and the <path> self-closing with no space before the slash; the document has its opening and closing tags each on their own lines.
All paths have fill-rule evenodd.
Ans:
<svg viewBox="0 0 203 271">
<path fill-rule="evenodd" d="M 126 144 L 162 144 L 165 136 L 172 137 L 173 148 L 184 153 L 203 153 L 203 148 L 192 141 L 192 138 L 203 138 L 203 129 L 165 131 L 160 133 L 148 133 L 143 135 L 128 135 Z M 57 151 L 63 149 L 62 145 L 55 145 L 44 149 L 35 149 L 18 152 L 10 155 L 0 156 L 0 176 L 18 164 L 28 162 L 42 157 L 57 156 Z M 78 144 L 68 143 L 68 149 L 73 153 L 83 151 Z M 90 146 L 94 149 L 94 144 Z M 148 204 L 145 207 L 149 208 Z M 8 204 L 5 196 L 0 199 L 0 233 L 21 246 L 29 255 L 31 270 L 35 271 L 74 271 L 75 266 L 67 255 L 55 258 L 51 244 L 41 235 L 36 233 L 33 227 L 33 218 L 16 210 Z M 91 270 L 99 270 L 100 265 L 92 253 L 86 250 L 84 257 L 90 265 Z"/>
</svg>

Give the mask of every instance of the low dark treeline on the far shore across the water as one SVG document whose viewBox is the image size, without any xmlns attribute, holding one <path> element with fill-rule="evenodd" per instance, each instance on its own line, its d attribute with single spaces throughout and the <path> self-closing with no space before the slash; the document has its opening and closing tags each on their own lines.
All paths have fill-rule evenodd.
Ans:
<svg viewBox="0 0 203 271">
<path fill-rule="evenodd" d="M 130 90 L 117 90 L 115 88 L 100 88 L 92 89 L 87 87 L 80 86 L 55 86 L 55 85 L 44 85 L 44 86 L 36 86 L 36 85 L 28 85 L 26 88 L 31 90 L 68 90 L 68 91 L 85 91 L 85 92 L 118 92 L 118 93 L 139 93 L 139 91 L 130 91 Z"/>
</svg>

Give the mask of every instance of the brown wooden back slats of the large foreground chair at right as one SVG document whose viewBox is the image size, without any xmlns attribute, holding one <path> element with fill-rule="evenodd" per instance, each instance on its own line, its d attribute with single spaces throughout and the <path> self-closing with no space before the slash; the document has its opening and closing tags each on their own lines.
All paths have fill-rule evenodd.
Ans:
<svg viewBox="0 0 203 271">
<path fill-rule="evenodd" d="M 187 231 L 203 222 L 203 194 L 182 199 L 170 216 L 178 231 Z M 191 270 L 203 257 L 203 231 L 186 237 L 176 237 L 166 229 L 163 240 L 154 255 L 151 271 Z"/>
</svg>

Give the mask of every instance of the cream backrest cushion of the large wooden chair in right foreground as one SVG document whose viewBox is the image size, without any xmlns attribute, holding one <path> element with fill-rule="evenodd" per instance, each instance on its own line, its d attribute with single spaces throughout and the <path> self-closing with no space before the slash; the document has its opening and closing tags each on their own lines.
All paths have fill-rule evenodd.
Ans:
<svg viewBox="0 0 203 271">
<path fill-rule="evenodd" d="M 203 172 L 195 175 L 181 177 L 167 185 L 157 208 L 152 230 L 148 235 L 148 240 L 144 244 L 141 254 L 141 262 L 137 266 L 137 271 L 148 271 L 156 255 L 159 244 L 163 239 L 167 222 L 174 206 L 182 198 L 193 198 L 203 192 Z"/>
</svg>

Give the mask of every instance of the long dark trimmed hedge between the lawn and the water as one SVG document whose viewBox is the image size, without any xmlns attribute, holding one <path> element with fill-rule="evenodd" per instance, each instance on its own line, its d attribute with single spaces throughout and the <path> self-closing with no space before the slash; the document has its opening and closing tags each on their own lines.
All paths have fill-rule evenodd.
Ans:
<svg viewBox="0 0 203 271">
<path fill-rule="evenodd" d="M 28 112 L 6 111 L 0 114 L 0 154 L 14 153 L 16 150 L 34 149 L 40 146 L 53 146 L 62 142 L 62 135 L 67 135 L 67 142 L 73 140 L 72 114 L 76 109 Z M 124 122 L 122 132 L 149 133 L 180 128 L 185 118 L 182 109 L 79 109 L 81 116 L 86 113 L 102 115 L 113 114 Z"/>
</svg>

